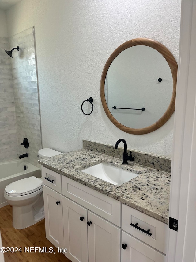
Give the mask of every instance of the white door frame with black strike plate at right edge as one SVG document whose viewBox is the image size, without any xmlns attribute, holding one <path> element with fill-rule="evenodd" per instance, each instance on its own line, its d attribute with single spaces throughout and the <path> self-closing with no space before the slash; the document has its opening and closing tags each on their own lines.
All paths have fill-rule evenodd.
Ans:
<svg viewBox="0 0 196 262">
<path fill-rule="evenodd" d="M 196 1 L 182 0 L 169 216 L 168 262 L 195 261 L 196 250 Z"/>
</svg>

